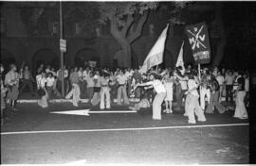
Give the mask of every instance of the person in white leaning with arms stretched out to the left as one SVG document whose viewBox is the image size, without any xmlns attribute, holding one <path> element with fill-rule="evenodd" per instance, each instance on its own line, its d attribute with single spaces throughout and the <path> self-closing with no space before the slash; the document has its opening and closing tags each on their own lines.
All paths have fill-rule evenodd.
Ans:
<svg viewBox="0 0 256 166">
<path fill-rule="evenodd" d="M 149 86 L 149 87 L 146 87 L 145 89 L 154 88 L 156 95 L 153 101 L 153 117 L 152 118 L 153 120 L 161 120 L 161 105 L 166 96 L 166 90 L 162 82 L 159 79 L 157 79 L 157 75 L 151 74 L 149 82 L 137 84 L 137 86 Z"/>
</svg>

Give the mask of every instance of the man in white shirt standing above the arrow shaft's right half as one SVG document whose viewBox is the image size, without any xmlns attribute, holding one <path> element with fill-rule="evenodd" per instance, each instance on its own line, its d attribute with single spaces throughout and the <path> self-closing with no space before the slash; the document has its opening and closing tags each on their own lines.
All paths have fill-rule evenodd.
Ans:
<svg viewBox="0 0 256 166">
<path fill-rule="evenodd" d="M 129 105 L 129 100 L 126 91 L 127 77 L 123 75 L 123 72 L 120 70 L 119 75 L 117 75 L 118 85 L 118 105 L 121 105 L 121 94 L 123 95 L 123 100 L 125 105 Z"/>
</svg>

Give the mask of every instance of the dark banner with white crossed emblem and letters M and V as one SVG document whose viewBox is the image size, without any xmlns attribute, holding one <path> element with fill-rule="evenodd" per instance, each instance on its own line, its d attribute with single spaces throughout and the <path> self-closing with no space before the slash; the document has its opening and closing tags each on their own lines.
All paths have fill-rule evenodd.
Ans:
<svg viewBox="0 0 256 166">
<path fill-rule="evenodd" d="M 186 26 L 186 34 L 192 47 L 196 64 L 210 63 L 210 42 L 208 26 L 205 23 Z"/>
</svg>

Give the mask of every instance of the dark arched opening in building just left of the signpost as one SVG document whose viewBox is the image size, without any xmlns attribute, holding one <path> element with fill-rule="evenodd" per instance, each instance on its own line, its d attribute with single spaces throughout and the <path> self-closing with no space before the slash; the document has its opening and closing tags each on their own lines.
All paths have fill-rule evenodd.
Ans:
<svg viewBox="0 0 256 166">
<path fill-rule="evenodd" d="M 33 71 L 35 71 L 36 68 L 42 63 L 45 64 L 45 66 L 51 65 L 56 69 L 60 67 L 59 58 L 57 54 L 51 49 L 41 49 L 34 54 L 32 58 Z"/>
</svg>

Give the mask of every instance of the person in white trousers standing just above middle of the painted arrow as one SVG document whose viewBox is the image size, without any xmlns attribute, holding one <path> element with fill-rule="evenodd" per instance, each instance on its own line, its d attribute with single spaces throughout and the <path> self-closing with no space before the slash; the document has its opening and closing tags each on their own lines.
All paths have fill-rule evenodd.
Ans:
<svg viewBox="0 0 256 166">
<path fill-rule="evenodd" d="M 100 108 L 104 109 L 105 104 L 106 108 L 110 108 L 110 88 L 109 88 L 109 75 L 104 73 L 103 76 L 101 76 L 100 84 L 101 84 L 101 105 Z M 105 97 L 106 96 L 106 97 Z"/>
</svg>

